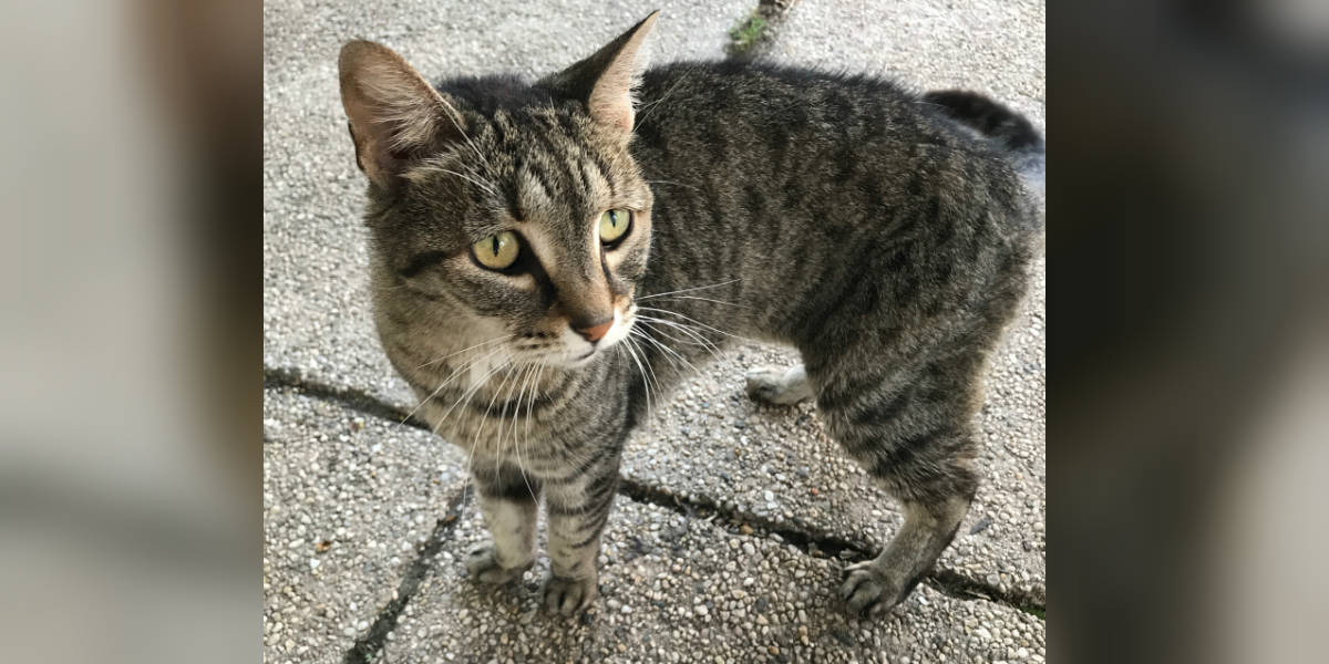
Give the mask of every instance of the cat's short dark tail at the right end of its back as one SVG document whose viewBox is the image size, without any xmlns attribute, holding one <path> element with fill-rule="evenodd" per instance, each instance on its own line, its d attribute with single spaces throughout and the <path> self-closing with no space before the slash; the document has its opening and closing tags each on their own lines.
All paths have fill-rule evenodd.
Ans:
<svg viewBox="0 0 1329 664">
<path fill-rule="evenodd" d="M 1043 198 L 1047 177 L 1047 145 L 1029 118 L 969 90 L 936 90 L 922 101 L 940 106 L 962 126 L 995 142 L 1006 154 L 1031 193 Z"/>
</svg>

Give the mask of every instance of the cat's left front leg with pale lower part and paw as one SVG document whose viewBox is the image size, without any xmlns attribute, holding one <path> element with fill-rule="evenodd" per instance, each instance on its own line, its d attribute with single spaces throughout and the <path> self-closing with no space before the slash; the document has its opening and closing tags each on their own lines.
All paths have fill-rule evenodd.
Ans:
<svg viewBox="0 0 1329 664">
<path fill-rule="evenodd" d="M 480 513 L 493 539 L 470 551 L 466 570 L 480 583 L 520 579 L 536 562 L 540 483 L 512 466 L 476 470 L 473 477 Z"/>
</svg>

